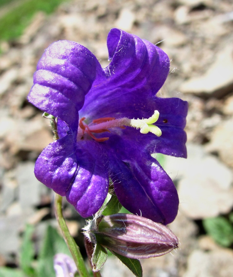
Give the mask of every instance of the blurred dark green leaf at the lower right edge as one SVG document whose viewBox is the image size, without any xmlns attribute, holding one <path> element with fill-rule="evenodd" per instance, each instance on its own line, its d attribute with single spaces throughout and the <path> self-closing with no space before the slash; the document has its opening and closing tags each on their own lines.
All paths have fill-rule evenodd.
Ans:
<svg viewBox="0 0 233 277">
<path fill-rule="evenodd" d="M 229 247 L 233 243 L 233 226 L 223 216 L 203 220 L 203 227 L 216 243 Z"/>
</svg>

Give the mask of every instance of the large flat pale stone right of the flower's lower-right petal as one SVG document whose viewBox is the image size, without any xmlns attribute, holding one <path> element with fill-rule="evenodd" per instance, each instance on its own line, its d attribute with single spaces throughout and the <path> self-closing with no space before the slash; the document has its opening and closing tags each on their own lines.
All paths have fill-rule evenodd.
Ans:
<svg viewBox="0 0 233 277">
<path fill-rule="evenodd" d="M 215 217 L 231 211 L 231 171 L 214 157 L 200 160 L 191 169 L 190 176 L 179 182 L 179 209 L 193 219 Z"/>
</svg>

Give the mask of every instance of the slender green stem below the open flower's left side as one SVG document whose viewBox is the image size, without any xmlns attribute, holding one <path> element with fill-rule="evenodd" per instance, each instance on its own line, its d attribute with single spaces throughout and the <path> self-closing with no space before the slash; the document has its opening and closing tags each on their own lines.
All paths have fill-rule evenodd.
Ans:
<svg viewBox="0 0 233 277">
<path fill-rule="evenodd" d="M 80 253 L 79 247 L 74 241 L 73 237 L 70 235 L 68 227 L 65 223 L 65 219 L 62 214 L 62 196 L 55 194 L 54 200 L 55 215 L 58 221 L 60 230 L 62 232 L 63 238 L 73 256 L 74 262 L 77 266 L 78 272 L 81 277 L 89 277 L 89 272 L 85 266 L 84 260 Z"/>
</svg>

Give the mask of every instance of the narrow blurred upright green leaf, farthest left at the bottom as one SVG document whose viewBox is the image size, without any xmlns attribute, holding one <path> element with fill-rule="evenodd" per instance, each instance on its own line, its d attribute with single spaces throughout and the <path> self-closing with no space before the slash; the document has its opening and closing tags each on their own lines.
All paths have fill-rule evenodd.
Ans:
<svg viewBox="0 0 233 277">
<path fill-rule="evenodd" d="M 30 224 L 26 225 L 26 229 L 23 235 L 23 243 L 21 247 L 21 255 L 20 255 L 20 268 L 22 268 L 23 272 L 28 276 L 35 277 L 35 269 L 32 267 L 32 262 L 34 260 L 34 247 L 31 240 L 32 234 L 34 231 L 34 227 Z"/>
</svg>

